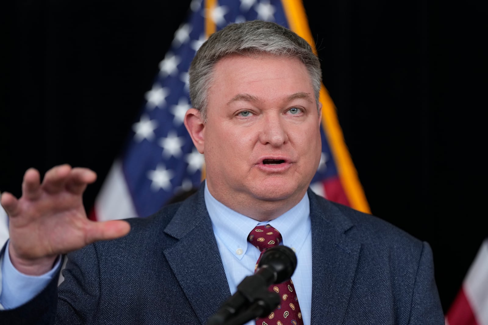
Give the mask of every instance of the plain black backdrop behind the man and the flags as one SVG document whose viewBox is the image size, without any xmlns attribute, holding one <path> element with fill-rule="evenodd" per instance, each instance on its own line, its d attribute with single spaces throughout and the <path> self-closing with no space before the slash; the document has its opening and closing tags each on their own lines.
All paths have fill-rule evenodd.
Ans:
<svg viewBox="0 0 488 325">
<path fill-rule="evenodd" d="M 91 208 L 186 15 L 188 0 L 166 2 L 0 5 L 0 191 L 69 163 L 99 174 Z M 470 6 L 305 3 L 371 210 L 431 244 L 445 311 L 488 233 L 486 32 Z"/>
</svg>

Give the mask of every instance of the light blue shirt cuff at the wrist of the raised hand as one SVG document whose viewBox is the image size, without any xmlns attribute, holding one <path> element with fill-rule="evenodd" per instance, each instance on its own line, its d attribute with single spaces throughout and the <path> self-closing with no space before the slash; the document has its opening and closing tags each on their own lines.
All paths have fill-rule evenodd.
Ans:
<svg viewBox="0 0 488 325">
<path fill-rule="evenodd" d="M 30 301 L 47 287 L 61 266 L 61 258 L 58 258 L 49 272 L 40 276 L 25 275 L 12 265 L 8 245 L 7 242 L 5 253 L 0 257 L 0 309 L 17 308 Z"/>
</svg>

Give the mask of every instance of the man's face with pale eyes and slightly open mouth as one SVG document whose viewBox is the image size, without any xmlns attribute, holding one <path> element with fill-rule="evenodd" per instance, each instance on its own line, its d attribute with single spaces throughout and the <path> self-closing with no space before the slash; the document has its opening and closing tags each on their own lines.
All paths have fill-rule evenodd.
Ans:
<svg viewBox="0 0 488 325">
<path fill-rule="evenodd" d="M 297 204 L 320 161 L 320 121 L 310 78 L 298 59 L 221 59 L 197 145 L 205 154 L 209 191 L 241 213 L 236 206 L 260 201 Z"/>
</svg>

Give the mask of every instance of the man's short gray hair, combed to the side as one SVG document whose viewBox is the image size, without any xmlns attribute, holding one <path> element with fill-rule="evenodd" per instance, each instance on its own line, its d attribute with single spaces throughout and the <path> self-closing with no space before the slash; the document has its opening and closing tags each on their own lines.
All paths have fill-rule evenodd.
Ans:
<svg viewBox="0 0 488 325">
<path fill-rule="evenodd" d="M 215 64 L 233 54 L 296 57 L 304 64 L 310 76 L 317 106 L 319 103 L 322 71 L 317 56 L 307 41 L 289 29 L 274 22 L 262 20 L 229 24 L 212 34 L 197 51 L 190 69 L 190 100 L 206 121 L 207 94 Z"/>
</svg>

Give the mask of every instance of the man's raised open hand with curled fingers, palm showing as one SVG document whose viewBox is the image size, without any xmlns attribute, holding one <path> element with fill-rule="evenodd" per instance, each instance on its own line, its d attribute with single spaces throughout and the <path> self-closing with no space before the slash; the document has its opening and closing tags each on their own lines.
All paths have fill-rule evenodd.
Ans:
<svg viewBox="0 0 488 325">
<path fill-rule="evenodd" d="M 127 234 L 125 221 L 94 222 L 86 217 L 82 194 L 97 178 L 86 168 L 61 165 L 46 172 L 41 183 L 37 170 L 24 174 L 22 196 L 4 192 L 0 203 L 9 215 L 10 259 L 15 268 L 40 275 L 59 254 Z"/>
</svg>

